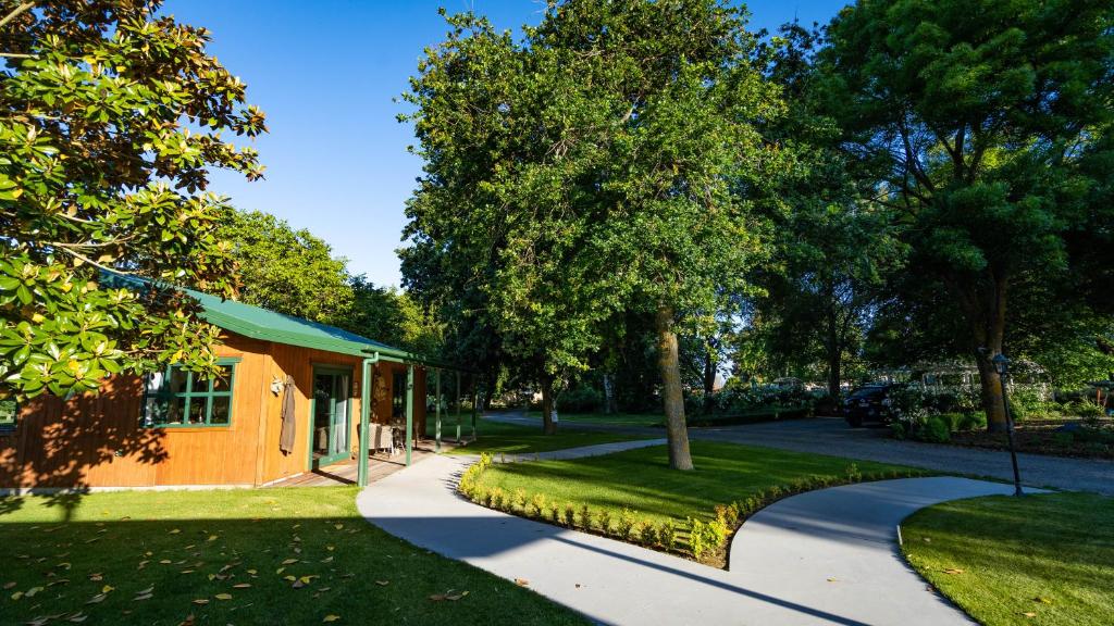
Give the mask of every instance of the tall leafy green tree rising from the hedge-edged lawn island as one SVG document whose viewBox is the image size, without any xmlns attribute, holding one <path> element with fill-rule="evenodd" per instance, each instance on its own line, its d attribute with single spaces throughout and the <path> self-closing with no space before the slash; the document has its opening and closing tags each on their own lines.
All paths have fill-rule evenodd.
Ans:
<svg viewBox="0 0 1114 626">
<path fill-rule="evenodd" d="M 617 313 L 652 315 L 671 464 L 692 468 L 677 333 L 743 290 L 747 200 L 776 172 L 754 123 L 781 102 L 741 12 L 570 0 L 521 43 L 453 25 L 411 96 L 427 176 L 410 272 L 471 262 L 449 292 L 482 285 L 502 349 L 543 375 L 586 363 Z"/>
</svg>

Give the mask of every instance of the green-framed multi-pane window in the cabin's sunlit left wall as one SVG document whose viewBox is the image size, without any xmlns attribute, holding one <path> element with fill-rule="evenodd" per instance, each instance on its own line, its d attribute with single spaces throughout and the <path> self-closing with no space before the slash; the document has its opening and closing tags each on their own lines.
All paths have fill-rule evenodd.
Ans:
<svg viewBox="0 0 1114 626">
<path fill-rule="evenodd" d="M 144 384 L 144 426 L 231 424 L 235 363 L 218 362 L 218 368 L 221 375 L 213 379 L 178 365 L 147 374 Z"/>
</svg>

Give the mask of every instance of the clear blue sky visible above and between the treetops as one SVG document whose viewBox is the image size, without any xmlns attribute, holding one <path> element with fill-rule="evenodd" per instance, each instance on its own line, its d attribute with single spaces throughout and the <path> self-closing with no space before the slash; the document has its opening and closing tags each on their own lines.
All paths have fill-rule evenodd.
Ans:
<svg viewBox="0 0 1114 626">
<path fill-rule="evenodd" d="M 750 2 L 753 28 L 825 22 L 847 0 Z M 322 237 L 354 273 L 400 283 L 403 203 L 421 174 L 395 121 L 437 14 L 471 9 L 500 28 L 537 23 L 536 0 L 166 0 L 164 12 L 213 32 L 211 53 L 247 84 L 271 129 L 255 141 L 266 179 L 216 173 L 211 190 Z"/>
</svg>

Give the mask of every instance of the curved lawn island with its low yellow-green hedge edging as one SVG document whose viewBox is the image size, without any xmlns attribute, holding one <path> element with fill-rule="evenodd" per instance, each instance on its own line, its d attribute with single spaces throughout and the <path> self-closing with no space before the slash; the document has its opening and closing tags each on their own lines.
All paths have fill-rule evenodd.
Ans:
<svg viewBox="0 0 1114 626">
<path fill-rule="evenodd" d="M 485 456 L 458 489 L 480 506 L 723 568 L 740 526 L 782 498 L 929 473 L 704 441 L 692 442 L 692 454 L 687 472 L 668 468 L 664 446 L 569 461 L 497 464 Z"/>
</svg>

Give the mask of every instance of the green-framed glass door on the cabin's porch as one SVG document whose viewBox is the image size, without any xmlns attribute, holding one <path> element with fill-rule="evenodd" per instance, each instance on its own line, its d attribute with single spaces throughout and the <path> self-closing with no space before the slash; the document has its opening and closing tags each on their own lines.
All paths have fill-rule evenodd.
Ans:
<svg viewBox="0 0 1114 626">
<path fill-rule="evenodd" d="M 343 370 L 313 370 L 313 426 L 310 461 L 313 468 L 349 457 L 349 380 Z"/>
</svg>

